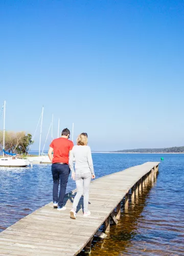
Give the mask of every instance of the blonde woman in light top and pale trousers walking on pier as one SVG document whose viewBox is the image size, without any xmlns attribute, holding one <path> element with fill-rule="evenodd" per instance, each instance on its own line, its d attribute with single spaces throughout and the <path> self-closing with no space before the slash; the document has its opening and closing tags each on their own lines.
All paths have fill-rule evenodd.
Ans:
<svg viewBox="0 0 184 256">
<path fill-rule="evenodd" d="M 75 170 L 74 170 L 75 158 Z M 77 145 L 70 152 L 69 159 L 70 169 L 72 171 L 72 179 L 76 181 L 77 194 L 74 198 L 73 207 L 70 211 L 71 218 L 76 219 L 76 209 L 79 200 L 84 196 L 84 217 L 90 215 L 88 210 L 89 201 L 89 184 L 92 179 L 95 179 L 93 160 L 91 157 L 90 147 L 87 146 L 87 134 L 81 133 L 77 138 Z"/>
</svg>

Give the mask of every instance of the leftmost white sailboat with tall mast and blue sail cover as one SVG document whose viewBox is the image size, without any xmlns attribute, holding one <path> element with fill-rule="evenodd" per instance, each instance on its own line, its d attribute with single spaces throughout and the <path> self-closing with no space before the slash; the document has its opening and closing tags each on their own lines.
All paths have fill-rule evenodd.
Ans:
<svg viewBox="0 0 184 256">
<path fill-rule="evenodd" d="M 3 128 L 3 157 L 0 158 L 0 167 L 27 167 L 30 163 L 28 159 L 22 159 L 17 154 L 5 151 L 5 114 L 6 101 L 4 102 L 4 128 Z M 6 156 L 5 156 L 6 155 Z"/>
</svg>

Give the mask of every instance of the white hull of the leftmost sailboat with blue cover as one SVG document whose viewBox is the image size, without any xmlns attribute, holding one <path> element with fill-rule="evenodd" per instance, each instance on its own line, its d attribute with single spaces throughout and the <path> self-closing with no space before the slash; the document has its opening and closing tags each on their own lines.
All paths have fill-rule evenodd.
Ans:
<svg viewBox="0 0 184 256">
<path fill-rule="evenodd" d="M 21 159 L 16 157 L 2 157 L 0 158 L 0 167 L 27 167 L 29 165 L 28 159 Z"/>
</svg>

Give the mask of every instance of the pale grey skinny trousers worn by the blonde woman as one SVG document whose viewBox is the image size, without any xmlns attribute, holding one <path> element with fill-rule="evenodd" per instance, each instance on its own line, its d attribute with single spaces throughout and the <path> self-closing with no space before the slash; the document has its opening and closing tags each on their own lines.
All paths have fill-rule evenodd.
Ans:
<svg viewBox="0 0 184 256">
<path fill-rule="evenodd" d="M 91 173 L 87 172 L 79 172 L 75 173 L 75 181 L 77 186 L 77 194 L 74 198 L 73 209 L 76 211 L 79 200 L 83 194 L 84 196 L 84 212 L 88 211 L 88 201 L 89 201 L 89 184 L 91 181 Z"/>
</svg>

